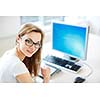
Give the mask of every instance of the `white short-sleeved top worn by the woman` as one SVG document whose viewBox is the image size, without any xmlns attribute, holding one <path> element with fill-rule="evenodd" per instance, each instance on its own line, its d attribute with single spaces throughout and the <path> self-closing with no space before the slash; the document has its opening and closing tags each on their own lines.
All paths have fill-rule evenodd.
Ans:
<svg viewBox="0 0 100 100">
<path fill-rule="evenodd" d="M 17 75 L 29 73 L 25 64 L 15 55 L 15 50 L 7 51 L 0 58 L 0 82 L 17 83 Z"/>
</svg>

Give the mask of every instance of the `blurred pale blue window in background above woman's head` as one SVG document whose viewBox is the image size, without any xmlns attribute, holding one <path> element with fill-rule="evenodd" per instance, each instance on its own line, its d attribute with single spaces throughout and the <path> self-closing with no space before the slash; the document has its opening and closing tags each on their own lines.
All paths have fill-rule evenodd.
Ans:
<svg viewBox="0 0 100 100">
<path fill-rule="evenodd" d="M 64 21 L 64 16 L 21 16 L 21 24 L 32 22 L 36 25 L 41 25 L 45 32 L 51 30 L 51 22 L 53 20 Z"/>
</svg>

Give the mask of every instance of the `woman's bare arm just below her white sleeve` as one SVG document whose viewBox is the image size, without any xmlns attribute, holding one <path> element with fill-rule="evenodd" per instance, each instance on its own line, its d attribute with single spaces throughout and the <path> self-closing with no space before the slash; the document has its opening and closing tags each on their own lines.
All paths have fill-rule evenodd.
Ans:
<svg viewBox="0 0 100 100">
<path fill-rule="evenodd" d="M 29 73 L 17 75 L 16 79 L 20 83 L 33 83 L 32 77 Z"/>
</svg>

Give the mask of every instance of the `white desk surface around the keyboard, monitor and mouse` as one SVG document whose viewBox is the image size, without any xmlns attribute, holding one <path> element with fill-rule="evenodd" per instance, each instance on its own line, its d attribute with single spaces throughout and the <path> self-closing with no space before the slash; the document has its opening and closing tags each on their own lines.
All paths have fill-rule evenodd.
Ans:
<svg viewBox="0 0 100 100">
<path fill-rule="evenodd" d="M 93 69 L 93 73 L 86 78 L 85 83 L 100 82 L 100 37 L 94 34 L 89 34 L 87 60 L 84 61 Z M 51 53 L 51 44 L 47 43 L 43 47 L 42 57 Z M 74 74 L 69 71 L 62 70 L 51 77 L 53 83 L 72 83 L 77 76 L 84 76 L 87 69 Z"/>
</svg>

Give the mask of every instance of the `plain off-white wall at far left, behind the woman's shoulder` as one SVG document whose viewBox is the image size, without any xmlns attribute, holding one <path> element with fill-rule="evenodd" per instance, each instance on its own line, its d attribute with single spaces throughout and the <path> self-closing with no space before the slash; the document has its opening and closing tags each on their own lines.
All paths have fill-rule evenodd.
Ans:
<svg viewBox="0 0 100 100">
<path fill-rule="evenodd" d="M 15 38 L 20 27 L 19 16 L 0 16 L 0 56 L 15 46 Z"/>
</svg>

